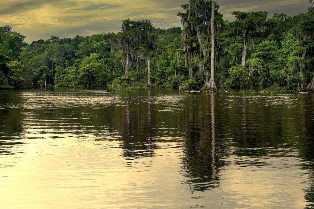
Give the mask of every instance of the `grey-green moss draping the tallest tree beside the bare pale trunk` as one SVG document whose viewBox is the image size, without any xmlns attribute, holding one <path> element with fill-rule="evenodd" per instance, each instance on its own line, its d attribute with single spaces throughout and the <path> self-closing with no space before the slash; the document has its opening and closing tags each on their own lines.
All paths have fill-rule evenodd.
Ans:
<svg viewBox="0 0 314 209">
<path fill-rule="evenodd" d="M 189 80 L 194 80 L 197 76 L 203 78 L 207 74 L 206 69 L 209 69 L 207 66 L 211 60 L 212 5 L 212 1 L 208 0 L 190 0 L 188 4 L 182 5 L 185 12 L 178 13 L 183 26 L 181 39 L 184 51 L 177 56 L 185 59 L 185 65 L 189 67 Z M 227 22 L 218 12 L 219 6 L 216 3 L 214 5 L 213 32 L 220 35 L 225 32 Z M 228 41 L 223 40 L 222 36 L 214 41 L 213 56 L 217 65 L 220 57 L 226 53 L 227 45 Z"/>
</svg>

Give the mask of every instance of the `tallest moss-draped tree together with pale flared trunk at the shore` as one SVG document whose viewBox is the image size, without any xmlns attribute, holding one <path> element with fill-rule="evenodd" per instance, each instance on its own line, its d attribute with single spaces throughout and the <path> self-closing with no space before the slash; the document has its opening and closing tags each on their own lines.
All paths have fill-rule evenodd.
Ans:
<svg viewBox="0 0 314 209">
<path fill-rule="evenodd" d="M 195 69 L 198 69 L 198 76 L 202 76 L 202 73 L 208 68 L 207 63 L 210 57 L 211 78 L 209 79 L 209 72 L 206 70 L 206 82 L 203 90 L 215 90 L 214 62 L 218 62 L 218 56 L 221 54 L 216 56 L 213 50 L 214 46 L 225 48 L 225 45 L 215 42 L 214 31 L 224 32 L 226 23 L 222 20 L 222 15 L 218 13 L 219 6 L 213 1 L 190 0 L 189 4 L 182 5 L 182 8 L 186 12 L 179 12 L 178 16 L 181 17 L 183 25 L 183 57 L 186 65 L 189 65 L 189 80 L 195 79 Z"/>
</svg>

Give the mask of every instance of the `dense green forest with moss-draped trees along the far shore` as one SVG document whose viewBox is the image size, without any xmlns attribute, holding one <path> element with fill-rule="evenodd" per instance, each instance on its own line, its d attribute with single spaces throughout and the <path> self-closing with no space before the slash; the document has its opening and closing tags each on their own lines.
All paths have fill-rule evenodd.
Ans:
<svg viewBox="0 0 314 209">
<path fill-rule="evenodd" d="M 51 36 L 29 44 L 10 26 L 0 27 L 0 89 L 313 92 L 314 0 L 299 15 L 234 11 L 233 22 L 219 13 L 218 3 L 182 5 L 182 28 L 156 29 L 149 20 L 127 19 L 119 33 Z"/>
</svg>

